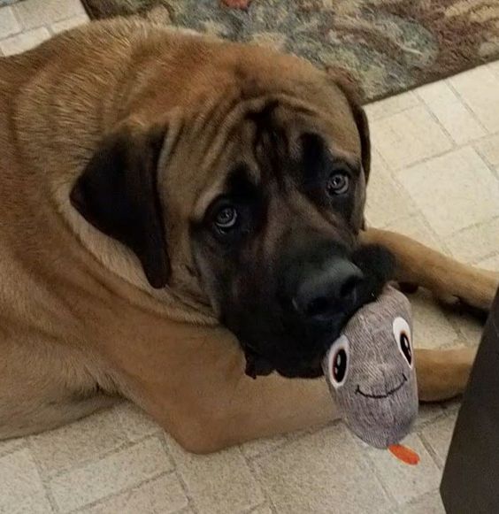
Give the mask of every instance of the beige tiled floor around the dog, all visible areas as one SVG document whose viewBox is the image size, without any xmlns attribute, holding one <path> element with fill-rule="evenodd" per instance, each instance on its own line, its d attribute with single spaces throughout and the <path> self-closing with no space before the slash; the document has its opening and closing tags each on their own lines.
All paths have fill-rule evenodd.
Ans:
<svg viewBox="0 0 499 514">
<path fill-rule="evenodd" d="M 0 52 L 86 22 L 77 0 L 0 9 Z M 367 107 L 368 219 L 499 270 L 499 63 Z M 480 327 L 413 299 L 417 344 L 476 344 Z M 341 424 L 191 456 L 128 404 L 0 443 L 0 512 L 442 512 L 437 488 L 457 403 L 426 407 L 409 438 L 417 468 Z"/>
</svg>

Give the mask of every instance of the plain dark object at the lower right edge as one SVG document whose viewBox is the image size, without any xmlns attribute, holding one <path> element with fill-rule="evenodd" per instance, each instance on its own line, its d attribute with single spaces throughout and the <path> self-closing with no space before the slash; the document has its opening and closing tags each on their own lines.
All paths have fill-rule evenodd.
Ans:
<svg viewBox="0 0 499 514">
<path fill-rule="evenodd" d="M 464 393 L 440 491 L 448 514 L 499 513 L 499 294 Z"/>
</svg>

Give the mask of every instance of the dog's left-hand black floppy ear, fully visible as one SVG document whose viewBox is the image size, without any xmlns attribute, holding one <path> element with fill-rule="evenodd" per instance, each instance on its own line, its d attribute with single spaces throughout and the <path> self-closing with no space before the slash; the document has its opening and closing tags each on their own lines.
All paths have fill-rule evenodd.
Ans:
<svg viewBox="0 0 499 514">
<path fill-rule="evenodd" d="M 150 285 L 170 274 L 157 161 L 165 127 L 120 128 L 104 139 L 71 192 L 71 203 L 98 230 L 127 245 Z"/>
</svg>

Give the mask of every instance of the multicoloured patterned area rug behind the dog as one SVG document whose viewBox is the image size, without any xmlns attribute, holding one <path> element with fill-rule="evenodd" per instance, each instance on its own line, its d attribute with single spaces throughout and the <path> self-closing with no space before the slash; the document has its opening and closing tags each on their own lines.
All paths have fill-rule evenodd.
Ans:
<svg viewBox="0 0 499 514">
<path fill-rule="evenodd" d="M 499 0 L 83 0 L 341 68 L 380 99 L 499 58 Z"/>
</svg>

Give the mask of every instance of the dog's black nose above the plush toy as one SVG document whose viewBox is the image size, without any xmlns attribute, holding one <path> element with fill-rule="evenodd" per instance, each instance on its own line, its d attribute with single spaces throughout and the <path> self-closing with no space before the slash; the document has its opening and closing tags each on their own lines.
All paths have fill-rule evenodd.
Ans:
<svg viewBox="0 0 499 514">
<path fill-rule="evenodd" d="M 363 273 L 349 260 L 331 258 L 315 270 L 308 270 L 298 284 L 293 305 L 311 321 L 326 321 L 355 310 L 363 279 Z"/>
</svg>

